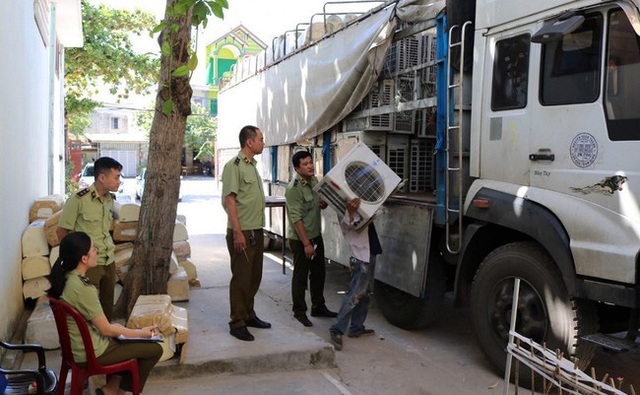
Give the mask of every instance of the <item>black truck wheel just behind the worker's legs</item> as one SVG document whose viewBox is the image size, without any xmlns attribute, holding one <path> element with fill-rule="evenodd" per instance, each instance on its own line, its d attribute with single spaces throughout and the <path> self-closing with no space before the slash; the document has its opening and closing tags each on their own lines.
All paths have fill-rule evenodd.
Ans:
<svg viewBox="0 0 640 395">
<path fill-rule="evenodd" d="M 445 286 L 444 262 L 438 257 L 429 262 L 424 298 L 377 280 L 373 293 L 387 321 L 403 329 L 418 329 L 433 324 L 439 318 Z"/>
</svg>

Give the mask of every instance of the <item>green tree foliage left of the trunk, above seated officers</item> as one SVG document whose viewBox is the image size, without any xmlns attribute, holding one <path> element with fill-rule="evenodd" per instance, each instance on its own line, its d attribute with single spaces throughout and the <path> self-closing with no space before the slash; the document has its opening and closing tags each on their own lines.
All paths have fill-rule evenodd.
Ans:
<svg viewBox="0 0 640 395">
<path fill-rule="evenodd" d="M 84 46 L 65 50 L 65 109 L 73 133 L 83 131 L 83 116 L 99 103 L 91 100 L 104 84 L 118 98 L 145 93 L 158 79 L 157 55 L 134 51 L 131 35 L 140 36 L 156 25 L 146 12 L 115 10 L 82 0 Z"/>
</svg>

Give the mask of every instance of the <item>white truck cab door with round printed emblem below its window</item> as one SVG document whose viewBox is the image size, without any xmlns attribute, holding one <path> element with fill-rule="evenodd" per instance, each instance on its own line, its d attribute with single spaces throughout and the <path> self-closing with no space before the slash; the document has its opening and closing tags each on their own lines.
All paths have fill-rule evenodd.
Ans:
<svg viewBox="0 0 640 395">
<path fill-rule="evenodd" d="M 603 15 L 595 12 L 572 33 L 533 44 L 540 60 L 538 97 L 531 103 L 531 186 L 566 193 L 571 174 L 602 161 L 602 40 Z"/>
</svg>

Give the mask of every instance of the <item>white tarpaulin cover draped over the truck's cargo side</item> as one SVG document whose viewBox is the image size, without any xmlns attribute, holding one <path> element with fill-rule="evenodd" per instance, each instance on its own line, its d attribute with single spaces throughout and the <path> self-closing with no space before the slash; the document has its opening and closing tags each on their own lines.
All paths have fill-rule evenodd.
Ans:
<svg viewBox="0 0 640 395">
<path fill-rule="evenodd" d="M 398 14 L 408 21 L 432 18 L 433 5 L 440 3 L 400 1 Z M 315 137 L 345 118 L 378 79 L 397 24 L 395 12 L 389 6 L 224 88 L 218 96 L 218 148 L 238 147 L 244 125 L 259 127 L 266 145 L 274 146 Z"/>
</svg>

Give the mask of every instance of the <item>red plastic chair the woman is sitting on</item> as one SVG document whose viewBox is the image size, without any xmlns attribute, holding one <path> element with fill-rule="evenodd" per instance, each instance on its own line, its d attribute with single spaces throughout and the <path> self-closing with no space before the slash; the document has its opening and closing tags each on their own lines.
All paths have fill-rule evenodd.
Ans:
<svg viewBox="0 0 640 395">
<path fill-rule="evenodd" d="M 71 368 L 71 393 L 70 395 L 81 395 L 83 393 L 84 384 L 89 377 L 97 374 L 111 375 L 117 372 L 129 371 L 132 377 L 132 389 L 133 395 L 140 395 L 140 375 L 138 373 L 138 360 L 130 359 L 112 365 L 101 365 L 93 349 L 93 341 L 91 340 L 91 334 L 89 332 L 89 326 L 82 314 L 69 304 L 54 298 L 49 298 L 51 304 L 51 310 L 53 311 L 53 317 L 56 320 L 56 327 L 58 329 L 58 338 L 60 338 L 60 347 L 62 348 L 62 365 L 60 366 L 58 395 L 64 395 L 65 382 L 67 380 L 67 373 Z M 71 340 L 69 338 L 69 325 L 67 317 L 71 317 L 78 328 L 80 329 L 80 335 L 82 336 L 82 342 L 84 343 L 84 349 L 87 353 L 87 362 L 84 366 L 78 366 L 73 360 L 73 352 L 71 351 Z"/>
</svg>

